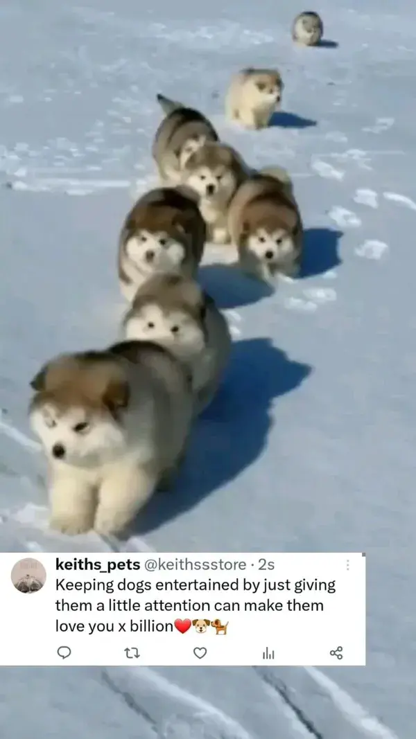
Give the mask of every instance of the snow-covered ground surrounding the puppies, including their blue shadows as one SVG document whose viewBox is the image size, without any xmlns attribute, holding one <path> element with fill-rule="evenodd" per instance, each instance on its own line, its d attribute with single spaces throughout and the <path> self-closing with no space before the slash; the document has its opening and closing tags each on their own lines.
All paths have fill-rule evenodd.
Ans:
<svg viewBox="0 0 416 739">
<path fill-rule="evenodd" d="M 2 732 L 414 739 L 416 8 L 322 0 L 332 43 L 301 50 L 289 27 L 304 8 L 289 2 L 142 5 L 0 6 L 1 548 L 366 551 L 368 663 L 3 669 Z M 264 132 L 224 121 L 229 75 L 249 65 L 286 83 Z M 132 191 L 155 181 L 156 92 L 200 107 L 253 165 L 289 168 L 305 275 L 266 296 L 201 270 L 235 353 L 170 507 L 151 505 L 123 545 L 66 539 L 45 528 L 28 383 L 50 355 L 115 336 L 115 241 Z"/>
</svg>

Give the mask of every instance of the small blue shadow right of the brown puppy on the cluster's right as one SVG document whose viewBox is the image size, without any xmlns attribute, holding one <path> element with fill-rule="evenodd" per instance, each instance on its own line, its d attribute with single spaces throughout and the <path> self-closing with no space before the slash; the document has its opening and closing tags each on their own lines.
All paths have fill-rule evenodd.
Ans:
<svg viewBox="0 0 416 739">
<path fill-rule="evenodd" d="M 321 275 L 342 263 L 338 253 L 341 236 L 342 231 L 332 228 L 305 229 L 301 278 Z"/>
</svg>

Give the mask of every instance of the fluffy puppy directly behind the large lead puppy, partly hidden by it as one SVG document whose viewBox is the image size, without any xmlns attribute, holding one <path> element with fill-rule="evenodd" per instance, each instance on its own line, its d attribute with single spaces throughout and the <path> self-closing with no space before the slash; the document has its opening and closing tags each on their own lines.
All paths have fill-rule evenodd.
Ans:
<svg viewBox="0 0 416 739">
<path fill-rule="evenodd" d="M 127 339 L 155 341 L 192 375 L 195 415 L 212 401 L 229 361 L 231 335 L 223 314 L 197 282 L 155 275 L 136 293 L 124 316 Z"/>
</svg>

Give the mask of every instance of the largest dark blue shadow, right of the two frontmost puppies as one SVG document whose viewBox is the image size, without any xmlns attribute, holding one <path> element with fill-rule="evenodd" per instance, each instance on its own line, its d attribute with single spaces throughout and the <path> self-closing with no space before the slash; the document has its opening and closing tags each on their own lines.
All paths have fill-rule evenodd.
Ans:
<svg viewBox="0 0 416 739">
<path fill-rule="evenodd" d="M 152 497 L 130 533 L 146 534 L 184 514 L 255 462 L 272 427 L 274 401 L 311 372 L 309 364 L 289 359 L 269 338 L 235 342 L 227 377 L 195 423 L 175 485 Z"/>
</svg>

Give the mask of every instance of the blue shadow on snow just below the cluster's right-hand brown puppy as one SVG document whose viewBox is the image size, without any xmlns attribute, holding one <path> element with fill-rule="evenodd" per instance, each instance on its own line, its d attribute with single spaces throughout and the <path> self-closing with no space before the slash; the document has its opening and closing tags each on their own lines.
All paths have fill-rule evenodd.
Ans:
<svg viewBox="0 0 416 739">
<path fill-rule="evenodd" d="M 204 265 L 199 279 L 220 310 L 251 305 L 273 293 L 272 287 L 244 274 L 238 265 Z"/>
</svg>

